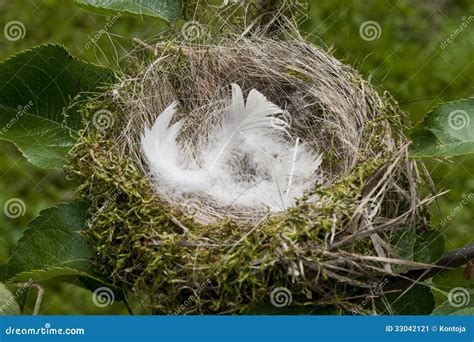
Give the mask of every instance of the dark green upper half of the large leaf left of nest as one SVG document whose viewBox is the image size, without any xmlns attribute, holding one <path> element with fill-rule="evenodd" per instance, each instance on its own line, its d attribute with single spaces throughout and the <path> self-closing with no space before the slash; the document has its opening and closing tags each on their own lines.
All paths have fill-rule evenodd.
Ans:
<svg viewBox="0 0 474 342">
<path fill-rule="evenodd" d="M 28 114 L 77 129 L 77 115 L 66 120 L 64 108 L 113 77 L 110 69 L 76 59 L 61 45 L 40 45 L 0 63 L 0 104 L 18 111 L 31 101 Z"/>
</svg>

